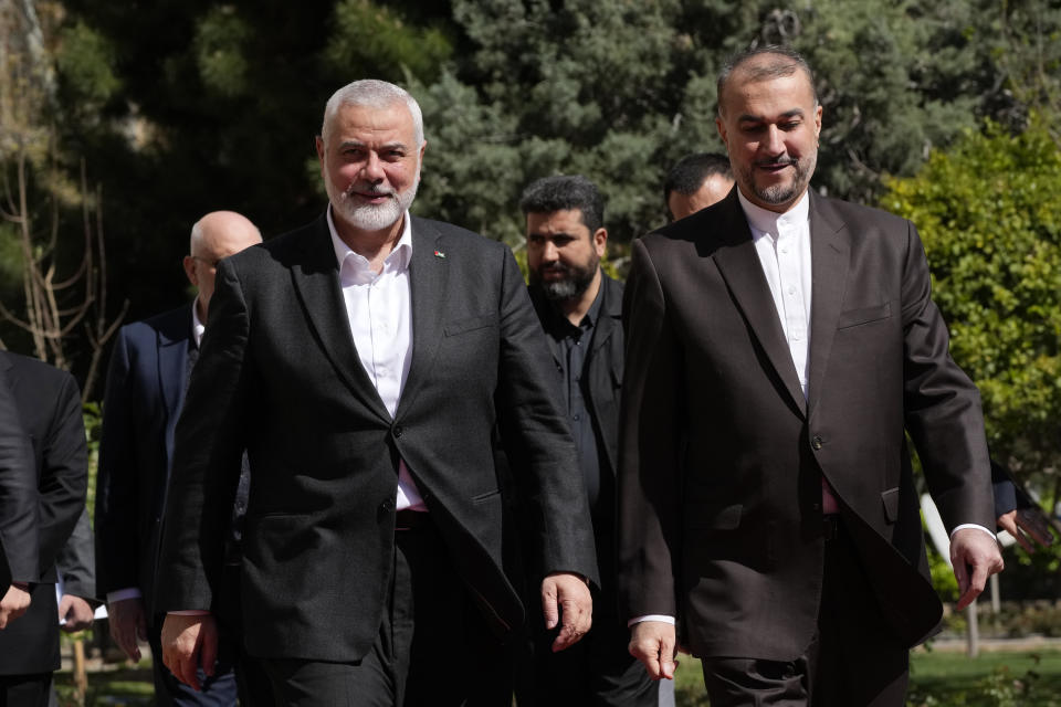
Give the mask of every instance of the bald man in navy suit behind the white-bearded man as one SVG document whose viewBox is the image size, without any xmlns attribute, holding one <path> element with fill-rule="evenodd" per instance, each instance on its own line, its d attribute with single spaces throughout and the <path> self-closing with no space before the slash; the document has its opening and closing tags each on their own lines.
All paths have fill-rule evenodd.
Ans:
<svg viewBox="0 0 1061 707">
<path fill-rule="evenodd" d="M 165 668 L 155 590 L 174 430 L 207 325 L 216 266 L 261 240 L 254 224 L 238 213 L 217 211 L 200 219 L 183 261 L 198 291 L 195 303 L 122 327 L 111 356 L 96 482 L 98 591 L 107 599 L 111 634 L 129 657 L 139 659 L 137 640 L 151 645 L 159 704 L 234 705 L 237 699 L 234 644 L 202 692 Z M 227 528 L 223 537 L 230 534 Z"/>
</svg>

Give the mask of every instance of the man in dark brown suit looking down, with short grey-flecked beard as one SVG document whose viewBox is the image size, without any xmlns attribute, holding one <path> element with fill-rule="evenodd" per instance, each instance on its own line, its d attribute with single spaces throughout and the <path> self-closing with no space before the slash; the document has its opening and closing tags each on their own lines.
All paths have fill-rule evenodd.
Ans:
<svg viewBox="0 0 1061 707">
<path fill-rule="evenodd" d="M 950 359 L 914 226 L 809 191 L 810 68 L 759 48 L 723 71 L 725 200 L 633 244 L 620 452 L 631 651 L 713 706 L 902 705 L 942 604 L 906 433 L 962 599 L 1002 562 L 979 395 Z M 774 701 L 769 701 L 774 700 Z"/>
</svg>

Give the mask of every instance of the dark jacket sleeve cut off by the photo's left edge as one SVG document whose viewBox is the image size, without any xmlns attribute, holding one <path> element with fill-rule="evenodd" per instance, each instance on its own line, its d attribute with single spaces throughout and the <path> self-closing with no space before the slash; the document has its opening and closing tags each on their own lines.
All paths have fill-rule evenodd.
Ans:
<svg viewBox="0 0 1061 707">
<path fill-rule="evenodd" d="M 0 367 L 0 591 L 40 574 L 36 472 L 7 372 Z"/>
</svg>

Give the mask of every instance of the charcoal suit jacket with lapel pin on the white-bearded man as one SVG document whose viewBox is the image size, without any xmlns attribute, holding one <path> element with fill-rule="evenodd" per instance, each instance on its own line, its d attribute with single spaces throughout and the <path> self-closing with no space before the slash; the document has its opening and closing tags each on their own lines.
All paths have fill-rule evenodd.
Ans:
<svg viewBox="0 0 1061 707">
<path fill-rule="evenodd" d="M 540 564 L 595 578 L 574 443 L 512 253 L 416 218 L 412 242 L 412 358 L 395 419 L 354 348 L 325 217 L 221 262 L 177 428 L 161 609 L 208 609 L 217 594 L 245 446 L 251 654 L 356 661 L 369 650 L 388 595 L 399 457 L 487 620 L 517 626 L 502 570 L 498 418 L 508 454 L 528 460 Z"/>
</svg>

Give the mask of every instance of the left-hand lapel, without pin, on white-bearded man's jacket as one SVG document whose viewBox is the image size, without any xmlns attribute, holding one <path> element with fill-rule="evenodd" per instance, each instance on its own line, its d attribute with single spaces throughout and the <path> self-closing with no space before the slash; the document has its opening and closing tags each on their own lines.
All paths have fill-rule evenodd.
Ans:
<svg viewBox="0 0 1061 707">
<path fill-rule="evenodd" d="M 306 236 L 303 257 L 292 266 L 291 276 L 309 327 L 343 382 L 366 408 L 389 423 L 390 413 L 365 372 L 350 336 L 327 218 L 322 215 Z"/>
</svg>

